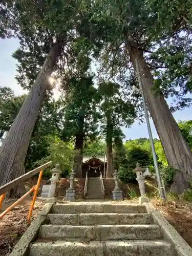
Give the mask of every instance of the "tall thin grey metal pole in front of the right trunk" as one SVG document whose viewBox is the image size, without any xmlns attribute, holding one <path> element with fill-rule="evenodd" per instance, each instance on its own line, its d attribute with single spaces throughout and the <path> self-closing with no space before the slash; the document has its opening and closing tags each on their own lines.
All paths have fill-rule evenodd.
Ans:
<svg viewBox="0 0 192 256">
<path fill-rule="evenodd" d="M 160 176 L 158 162 L 157 162 L 157 155 L 156 155 L 156 152 L 155 152 L 155 146 L 154 146 L 154 141 L 153 141 L 151 125 L 150 125 L 150 119 L 148 118 L 148 112 L 147 112 L 147 108 L 146 108 L 146 100 L 145 100 L 145 96 L 144 96 L 143 88 L 142 88 L 142 81 L 141 81 L 141 76 L 140 76 L 140 71 L 139 71 L 138 60 L 135 59 L 135 62 L 136 62 L 137 78 L 138 78 L 138 82 L 139 82 L 139 88 L 140 88 L 140 91 L 141 91 L 141 96 L 142 96 L 142 101 L 143 101 L 143 108 L 144 108 L 144 112 L 145 112 L 147 130 L 148 130 L 148 135 L 150 137 L 150 144 L 151 144 L 151 148 L 152 148 L 152 155 L 153 155 L 153 161 L 154 161 L 154 165 L 155 165 L 155 172 L 156 172 L 156 176 L 157 176 L 157 184 L 158 184 L 158 188 L 159 188 L 159 194 L 160 194 L 161 199 L 165 200 L 164 190 L 163 190 L 163 186 L 162 186 L 162 182 L 161 182 L 161 176 Z"/>
</svg>

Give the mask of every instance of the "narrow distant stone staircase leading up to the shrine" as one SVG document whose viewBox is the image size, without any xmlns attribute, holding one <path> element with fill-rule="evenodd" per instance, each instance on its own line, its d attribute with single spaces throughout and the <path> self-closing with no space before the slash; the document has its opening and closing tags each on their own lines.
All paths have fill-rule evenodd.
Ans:
<svg viewBox="0 0 192 256">
<path fill-rule="evenodd" d="M 100 178 L 88 178 L 87 199 L 103 199 Z"/>
</svg>

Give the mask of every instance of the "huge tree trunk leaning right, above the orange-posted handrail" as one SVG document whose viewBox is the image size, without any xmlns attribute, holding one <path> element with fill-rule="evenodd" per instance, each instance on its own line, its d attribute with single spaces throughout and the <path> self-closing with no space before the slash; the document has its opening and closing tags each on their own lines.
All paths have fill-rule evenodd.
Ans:
<svg viewBox="0 0 192 256">
<path fill-rule="evenodd" d="M 56 60 L 61 54 L 61 44 L 55 44 L 39 72 L 33 87 L 16 116 L 0 151 L 0 184 L 23 175 L 29 141 L 46 89 L 49 76 L 54 71 Z"/>
</svg>

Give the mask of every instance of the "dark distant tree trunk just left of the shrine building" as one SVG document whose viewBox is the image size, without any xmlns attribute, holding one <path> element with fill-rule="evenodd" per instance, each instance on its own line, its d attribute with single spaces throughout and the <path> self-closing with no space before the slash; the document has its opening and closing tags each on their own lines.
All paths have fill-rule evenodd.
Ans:
<svg viewBox="0 0 192 256">
<path fill-rule="evenodd" d="M 77 151 L 74 158 L 74 172 L 77 178 L 82 178 L 82 150 L 84 141 L 84 111 L 79 114 L 78 133 L 76 134 L 75 150 Z"/>
</svg>

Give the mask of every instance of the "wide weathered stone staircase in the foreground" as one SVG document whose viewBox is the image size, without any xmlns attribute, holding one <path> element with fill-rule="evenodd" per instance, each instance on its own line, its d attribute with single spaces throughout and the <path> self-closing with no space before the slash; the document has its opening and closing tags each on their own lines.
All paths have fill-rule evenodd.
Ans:
<svg viewBox="0 0 192 256">
<path fill-rule="evenodd" d="M 145 206 L 55 204 L 29 256 L 173 256 Z"/>
</svg>

